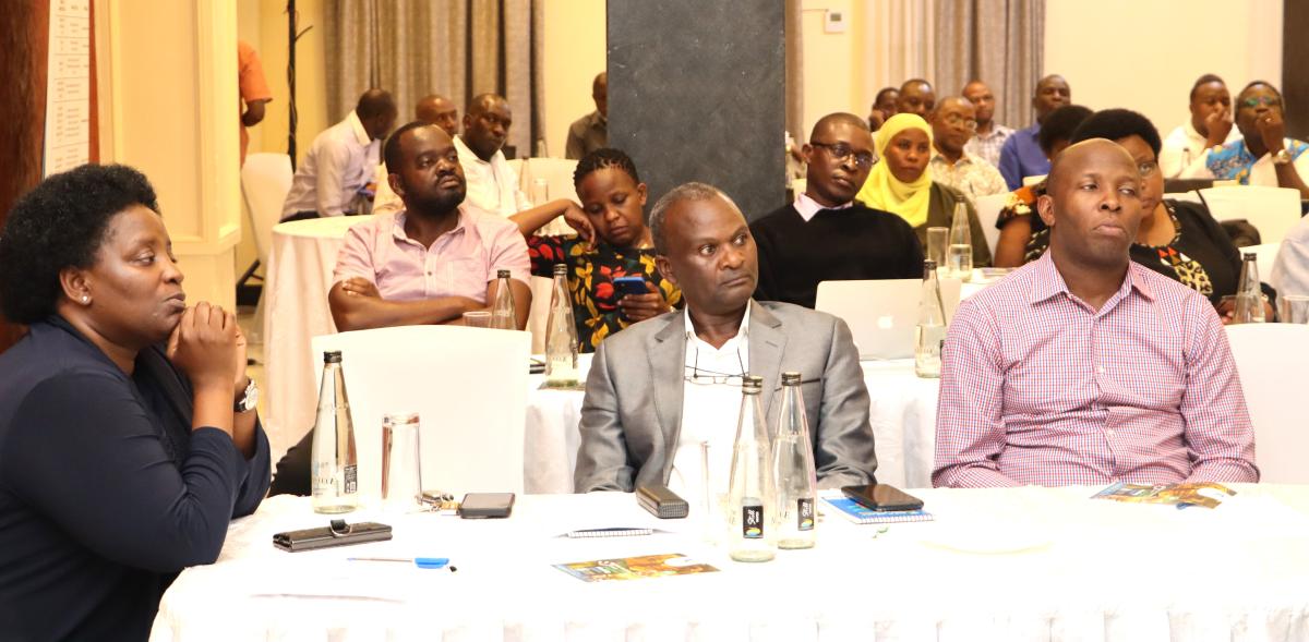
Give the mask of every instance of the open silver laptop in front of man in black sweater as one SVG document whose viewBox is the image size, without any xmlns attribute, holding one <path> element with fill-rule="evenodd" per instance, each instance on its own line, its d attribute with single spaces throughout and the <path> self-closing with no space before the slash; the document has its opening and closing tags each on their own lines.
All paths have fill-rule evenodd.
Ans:
<svg viewBox="0 0 1309 642">
<path fill-rule="evenodd" d="M 945 319 L 959 305 L 958 279 L 941 279 Z M 822 281 L 814 309 L 840 316 L 850 326 L 860 360 L 911 358 L 922 279 Z"/>
</svg>

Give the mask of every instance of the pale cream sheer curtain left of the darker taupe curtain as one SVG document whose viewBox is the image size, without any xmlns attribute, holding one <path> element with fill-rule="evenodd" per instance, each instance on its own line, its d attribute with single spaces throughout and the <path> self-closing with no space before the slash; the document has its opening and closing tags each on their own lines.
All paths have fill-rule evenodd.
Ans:
<svg viewBox="0 0 1309 642">
<path fill-rule="evenodd" d="M 867 114 L 882 88 L 899 88 L 908 78 L 927 78 L 937 85 L 935 22 L 931 0 L 869 1 L 863 38 L 864 60 L 868 60 L 863 92 L 867 101 L 856 114 Z"/>
</svg>

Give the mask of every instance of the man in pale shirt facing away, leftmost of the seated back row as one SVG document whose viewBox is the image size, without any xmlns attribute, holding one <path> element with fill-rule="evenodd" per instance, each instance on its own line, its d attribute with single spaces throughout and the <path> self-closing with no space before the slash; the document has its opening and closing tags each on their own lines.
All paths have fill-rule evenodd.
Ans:
<svg viewBox="0 0 1309 642">
<path fill-rule="evenodd" d="M 281 205 L 283 221 L 359 213 L 381 162 L 382 139 L 395 126 L 395 99 L 369 89 L 344 120 L 314 139 Z M 376 186 L 373 187 L 376 188 Z"/>
</svg>

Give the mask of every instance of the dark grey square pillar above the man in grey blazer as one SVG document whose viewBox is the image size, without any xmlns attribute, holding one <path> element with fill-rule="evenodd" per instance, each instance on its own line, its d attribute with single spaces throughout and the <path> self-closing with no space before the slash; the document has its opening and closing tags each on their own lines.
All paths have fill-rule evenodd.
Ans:
<svg viewBox="0 0 1309 642">
<path fill-rule="evenodd" d="M 785 44 L 778 0 L 609 0 L 609 144 L 651 205 L 687 180 L 747 218 L 784 204 Z"/>
</svg>

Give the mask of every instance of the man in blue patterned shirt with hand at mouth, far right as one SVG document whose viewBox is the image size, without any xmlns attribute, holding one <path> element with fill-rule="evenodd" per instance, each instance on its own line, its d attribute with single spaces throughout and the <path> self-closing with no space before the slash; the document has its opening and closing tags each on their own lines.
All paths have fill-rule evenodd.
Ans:
<svg viewBox="0 0 1309 642">
<path fill-rule="evenodd" d="M 1241 184 L 1288 187 L 1309 199 L 1309 144 L 1288 139 L 1285 105 L 1276 88 L 1257 80 L 1236 98 L 1236 127 L 1241 140 L 1206 150 L 1182 171 L 1182 178 L 1215 178 Z"/>
</svg>

